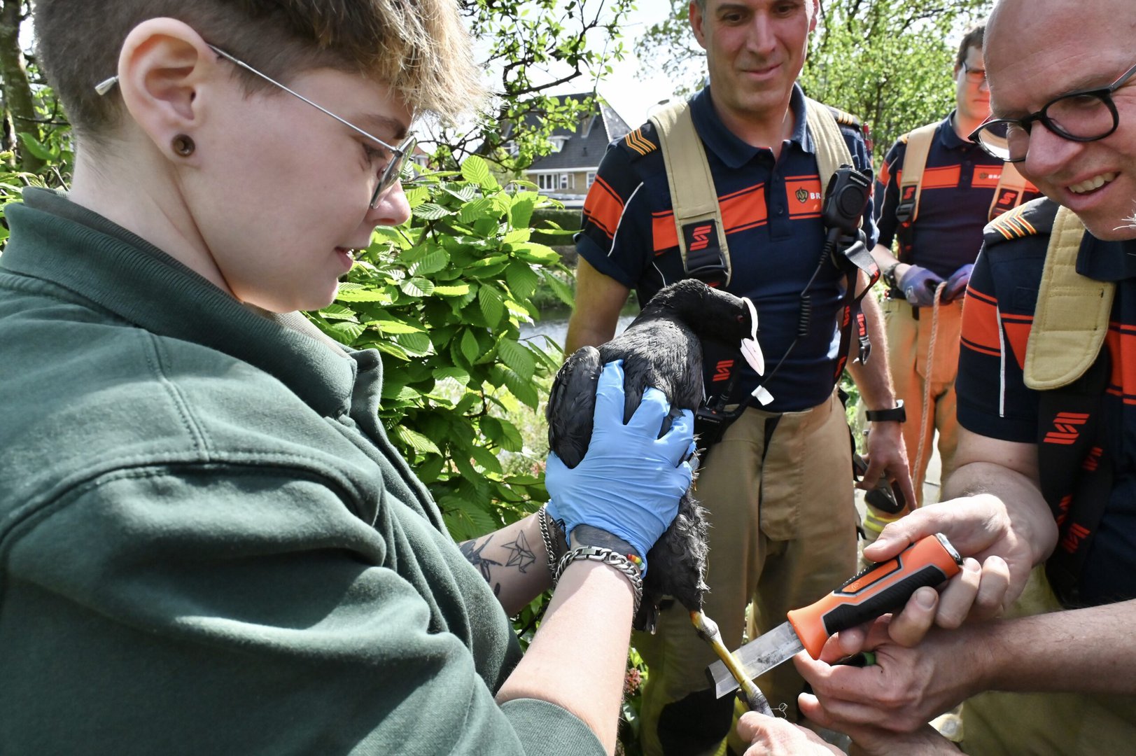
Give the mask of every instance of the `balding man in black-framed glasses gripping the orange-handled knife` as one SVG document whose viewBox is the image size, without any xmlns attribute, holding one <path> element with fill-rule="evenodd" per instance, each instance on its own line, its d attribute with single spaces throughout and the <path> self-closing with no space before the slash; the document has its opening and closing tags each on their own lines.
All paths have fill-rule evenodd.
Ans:
<svg viewBox="0 0 1136 756">
<path fill-rule="evenodd" d="M 962 432 L 945 491 L 957 498 L 888 525 L 867 553 L 886 558 L 943 532 L 984 559 L 983 573 L 969 578 L 971 617 L 1004 608 L 1012 618 L 932 628 L 967 616 L 967 592 L 944 593 L 936 609 L 934 592 L 920 589 L 889 625 L 870 629 L 866 645 L 877 666 L 797 661 L 816 693 L 801 708 L 822 724 L 911 730 L 970 696 L 1001 691 L 963 707 L 967 753 L 1133 750 L 1134 30 L 1128 0 L 1001 0 L 991 16 L 994 118 L 974 138 L 1014 160 L 1045 199 L 987 227 L 970 279 L 958 379 Z M 1067 391 L 1062 384 L 1093 376 L 1097 365 L 1103 389 L 1079 387 L 1078 414 L 1044 426 L 1039 415 Z M 1071 483 L 1054 487 L 1055 457 L 1045 447 L 1088 433 L 1086 414 L 1099 418 L 1087 456 L 1071 460 Z M 1096 496 L 1086 496 L 1094 488 Z M 827 658 L 863 640 L 862 632 L 842 634 Z"/>
</svg>

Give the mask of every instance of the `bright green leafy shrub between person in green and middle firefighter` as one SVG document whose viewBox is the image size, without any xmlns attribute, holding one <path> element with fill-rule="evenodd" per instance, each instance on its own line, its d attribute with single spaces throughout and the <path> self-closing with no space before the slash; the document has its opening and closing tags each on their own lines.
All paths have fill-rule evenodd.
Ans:
<svg viewBox="0 0 1136 756">
<path fill-rule="evenodd" d="M 571 298 L 554 275 L 560 257 L 531 240 L 534 210 L 551 205 L 533 189 L 502 188 L 477 156 L 460 175 L 416 178 L 410 219 L 378 229 L 335 302 L 309 315 L 340 342 L 382 354 L 379 416 L 458 540 L 519 520 L 548 496 L 543 455 L 510 419 L 540 408 L 560 366 L 559 352 L 520 340 L 519 324 L 540 316 L 533 293 L 543 282 Z M 506 470 L 502 452 L 532 464 Z"/>
</svg>

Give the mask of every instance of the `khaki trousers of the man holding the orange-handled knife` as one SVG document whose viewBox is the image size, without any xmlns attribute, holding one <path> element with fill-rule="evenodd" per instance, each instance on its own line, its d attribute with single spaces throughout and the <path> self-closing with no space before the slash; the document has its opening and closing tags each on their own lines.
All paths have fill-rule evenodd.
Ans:
<svg viewBox="0 0 1136 756">
<path fill-rule="evenodd" d="M 1036 567 L 1006 616 L 1060 610 Z M 986 692 L 962 706 L 962 749 L 974 756 L 1136 753 L 1136 696 Z"/>
</svg>

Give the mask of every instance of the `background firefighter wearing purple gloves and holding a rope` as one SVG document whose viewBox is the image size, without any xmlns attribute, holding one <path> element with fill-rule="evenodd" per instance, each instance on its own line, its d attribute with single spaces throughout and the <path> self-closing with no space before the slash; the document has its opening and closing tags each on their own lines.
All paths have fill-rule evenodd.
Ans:
<svg viewBox="0 0 1136 756">
<path fill-rule="evenodd" d="M 1012 164 L 967 139 L 989 115 L 984 31 L 985 24 L 972 27 L 959 45 L 955 109 L 942 122 L 900 138 L 876 182 L 879 243 L 872 255 L 888 285 L 884 302 L 887 363 L 895 394 L 907 410 L 903 440 L 919 504 L 935 431 L 942 476 L 954 468 L 954 375 L 962 298 L 982 246 L 983 226 L 1037 197 L 1036 188 Z M 893 242 L 897 242 L 896 255 Z M 864 521 L 869 540 L 895 516 L 869 507 Z"/>
</svg>

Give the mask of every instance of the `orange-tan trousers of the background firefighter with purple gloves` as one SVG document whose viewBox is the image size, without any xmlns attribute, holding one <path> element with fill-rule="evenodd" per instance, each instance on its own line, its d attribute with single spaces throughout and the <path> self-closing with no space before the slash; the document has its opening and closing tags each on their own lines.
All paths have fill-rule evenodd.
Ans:
<svg viewBox="0 0 1136 756">
<path fill-rule="evenodd" d="M 959 421 L 955 417 L 954 376 L 959 369 L 959 335 L 962 327 L 962 304 L 939 305 L 937 318 L 930 307 L 914 308 L 902 299 L 884 300 L 884 323 L 887 332 L 887 366 L 895 384 L 895 397 L 903 400 L 908 419 L 903 423 L 903 445 L 911 466 L 911 484 L 922 506 L 922 484 L 932 456 L 935 431 L 938 431 L 941 480 L 954 470 L 954 451 L 959 445 Z M 937 322 L 936 322 L 937 319 Z M 927 359 L 932 332 L 935 350 Z M 924 406 L 927 384 L 930 393 Z M 920 422 L 924 421 L 920 425 Z M 919 456 L 919 440 L 924 452 Z M 918 465 L 918 470 L 917 470 Z"/>
</svg>

